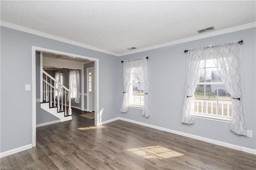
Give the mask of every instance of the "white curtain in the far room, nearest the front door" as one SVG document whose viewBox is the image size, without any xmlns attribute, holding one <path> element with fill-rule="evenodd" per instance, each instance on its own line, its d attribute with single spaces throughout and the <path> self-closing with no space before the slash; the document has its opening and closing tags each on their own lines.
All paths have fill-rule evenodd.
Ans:
<svg viewBox="0 0 256 170">
<path fill-rule="evenodd" d="M 79 71 L 78 70 L 70 70 L 68 75 L 68 81 L 69 81 L 69 90 L 71 98 L 75 99 L 75 103 L 80 103 L 80 79 L 79 79 Z M 69 97 L 68 97 L 69 99 Z"/>
</svg>

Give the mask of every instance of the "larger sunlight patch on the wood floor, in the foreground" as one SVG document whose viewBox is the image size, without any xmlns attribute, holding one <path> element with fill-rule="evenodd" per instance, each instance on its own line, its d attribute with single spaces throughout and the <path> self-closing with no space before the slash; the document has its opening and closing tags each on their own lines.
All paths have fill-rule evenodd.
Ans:
<svg viewBox="0 0 256 170">
<path fill-rule="evenodd" d="M 176 152 L 174 150 L 170 150 L 168 148 L 164 148 L 162 146 L 148 146 L 144 148 L 133 148 L 133 149 L 126 149 L 129 152 L 132 152 L 134 154 L 137 154 L 138 156 L 141 156 L 145 159 L 167 159 L 172 158 L 175 156 L 182 156 L 184 154 L 181 154 L 179 152 Z"/>
</svg>

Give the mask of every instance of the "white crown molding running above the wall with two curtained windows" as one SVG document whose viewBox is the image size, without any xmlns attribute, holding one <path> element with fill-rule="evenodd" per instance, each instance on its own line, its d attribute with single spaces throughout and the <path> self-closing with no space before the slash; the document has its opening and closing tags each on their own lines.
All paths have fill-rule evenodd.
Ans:
<svg viewBox="0 0 256 170">
<path fill-rule="evenodd" d="M 236 27 L 233 27 L 233 28 L 227 28 L 227 29 L 219 30 L 219 31 L 215 31 L 215 32 L 210 32 L 210 33 L 206 33 L 206 34 L 202 34 L 202 35 L 198 35 L 198 36 L 194 36 L 194 37 L 190 37 L 190 38 L 184 38 L 184 39 L 173 41 L 173 42 L 154 45 L 154 46 L 151 46 L 151 47 L 146 47 L 146 48 L 141 48 L 141 49 L 134 49 L 132 51 L 128 51 L 128 52 L 125 52 L 125 53 L 120 53 L 118 56 L 138 53 L 138 52 L 142 52 L 142 51 L 148 51 L 148 50 L 151 50 L 151 49 L 156 49 L 156 48 L 161 48 L 161 47 L 167 47 L 167 46 L 175 45 L 175 44 L 178 44 L 178 43 L 190 42 L 190 41 L 199 40 L 199 39 L 202 39 L 202 38 L 218 36 L 218 35 L 221 35 L 221 34 L 227 34 L 227 33 L 230 33 L 230 32 L 236 32 L 236 31 L 245 30 L 245 29 L 254 28 L 254 27 L 256 27 L 256 22 L 253 22 L 253 23 L 250 23 L 250 24 L 245 24 L 245 25 L 242 25 L 242 26 L 236 26 Z"/>
</svg>

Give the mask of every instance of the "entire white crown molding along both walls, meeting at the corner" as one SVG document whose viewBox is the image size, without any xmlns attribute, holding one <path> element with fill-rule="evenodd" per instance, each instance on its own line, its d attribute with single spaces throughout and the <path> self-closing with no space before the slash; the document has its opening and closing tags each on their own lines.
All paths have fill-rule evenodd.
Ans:
<svg viewBox="0 0 256 170">
<path fill-rule="evenodd" d="M 46 34 L 44 32 L 39 32 L 39 31 L 36 31 L 36 30 L 32 30 L 30 28 L 18 26 L 18 25 L 15 25 L 15 24 L 4 22 L 4 21 L 1 21 L 0 25 L 4 26 L 4 27 L 7 27 L 7 28 L 14 29 L 14 30 L 34 34 L 34 35 L 37 35 L 37 36 L 50 38 L 52 40 L 57 40 L 57 41 L 60 41 L 60 42 L 69 43 L 69 44 L 76 45 L 76 46 L 79 46 L 79 47 L 92 49 L 94 51 L 99 51 L 99 52 L 102 52 L 102 53 L 107 53 L 107 54 L 115 55 L 115 56 L 123 56 L 123 55 L 129 55 L 129 54 L 138 53 L 138 52 L 142 52 L 142 51 L 148 51 L 148 50 L 151 50 L 151 49 L 167 47 L 167 46 L 175 45 L 175 44 L 178 44 L 178 43 L 190 42 L 190 41 L 199 40 L 199 39 L 202 39 L 202 38 L 208 38 L 208 37 L 212 37 L 212 36 L 218 36 L 218 35 L 221 35 L 221 34 L 227 34 L 227 33 L 230 33 L 230 32 L 245 30 L 245 29 L 248 29 L 248 28 L 254 28 L 254 27 L 256 27 L 256 22 L 253 22 L 253 23 L 250 23 L 250 24 L 244 24 L 242 26 L 227 28 L 227 29 L 219 30 L 219 31 L 215 31 L 215 32 L 210 32 L 210 33 L 206 33 L 206 34 L 202 34 L 202 35 L 198 35 L 198 36 L 193 36 L 193 37 L 190 37 L 190 38 L 184 38 L 184 39 L 176 40 L 176 41 L 173 41 L 173 42 L 154 45 L 154 46 L 151 46 L 151 47 L 146 47 L 146 48 L 141 48 L 141 49 L 134 49 L 132 51 L 128 51 L 128 52 L 124 52 L 124 53 L 114 53 L 114 52 L 111 52 L 111 51 L 107 51 L 107 50 L 100 49 L 100 48 L 97 48 L 97 47 L 92 47 L 90 45 L 85 45 L 83 43 L 74 42 L 74 41 L 71 41 L 71 40 L 67 40 L 67 39 L 64 39 L 64 38 L 60 38 L 60 37 L 57 37 L 57 36 Z"/>
</svg>

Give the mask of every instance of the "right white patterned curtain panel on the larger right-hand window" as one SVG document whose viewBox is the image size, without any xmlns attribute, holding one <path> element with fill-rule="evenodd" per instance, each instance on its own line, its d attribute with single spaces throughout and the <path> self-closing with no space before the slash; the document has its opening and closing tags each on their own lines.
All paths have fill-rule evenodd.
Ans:
<svg viewBox="0 0 256 170">
<path fill-rule="evenodd" d="M 212 56 L 222 82 L 232 97 L 232 121 L 230 130 L 246 135 L 246 115 L 242 76 L 242 54 L 238 42 L 212 46 Z"/>
</svg>

